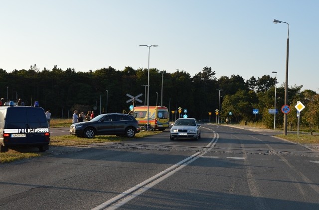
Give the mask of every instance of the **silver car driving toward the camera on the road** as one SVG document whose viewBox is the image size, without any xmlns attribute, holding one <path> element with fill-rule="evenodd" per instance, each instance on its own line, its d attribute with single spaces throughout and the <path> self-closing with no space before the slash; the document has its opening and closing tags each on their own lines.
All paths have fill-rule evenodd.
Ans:
<svg viewBox="0 0 319 210">
<path fill-rule="evenodd" d="M 198 140 L 200 138 L 200 124 L 195 118 L 179 118 L 172 124 L 169 138 L 170 140 L 184 138 Z"/>
</svg>

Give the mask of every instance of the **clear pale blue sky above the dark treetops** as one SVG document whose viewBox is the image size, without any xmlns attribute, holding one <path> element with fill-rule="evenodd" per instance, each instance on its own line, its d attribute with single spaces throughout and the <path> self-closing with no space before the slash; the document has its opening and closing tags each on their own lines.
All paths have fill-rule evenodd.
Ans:
<svg viewBox="0 0 319 210">
<path fill-rule="evenodd" d="M 0 68 L 263 75 L 319 93 L 319 0 L 0 0 Z M 152 84 L 152 81 L 151 81 Z"/>
</svg>

